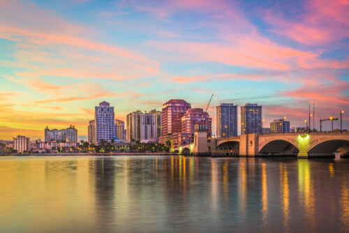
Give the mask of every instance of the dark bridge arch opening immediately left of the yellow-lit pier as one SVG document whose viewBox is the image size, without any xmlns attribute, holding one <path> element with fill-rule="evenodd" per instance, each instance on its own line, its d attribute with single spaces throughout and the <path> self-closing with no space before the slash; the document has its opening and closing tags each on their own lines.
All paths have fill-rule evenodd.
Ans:
<svg viewBox="0 0 349 233">
<path fill-rule="evenodd" d="M 258 154 L 260 155 L 297 155 L 299 148 L 294 140 L 272 139 L 260 144 Z"/>
</svg>

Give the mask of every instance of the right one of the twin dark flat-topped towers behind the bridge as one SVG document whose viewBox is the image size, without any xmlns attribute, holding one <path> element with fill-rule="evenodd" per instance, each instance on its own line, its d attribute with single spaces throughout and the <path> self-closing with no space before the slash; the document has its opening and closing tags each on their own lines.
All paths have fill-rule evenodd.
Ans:
<svg viewBox="0 0 349 233">
<path fill-rule="evenodd" d="M 241 107 L 241 134 L 262 133 L 262 106 L 246 103 Z"/>
</svg>

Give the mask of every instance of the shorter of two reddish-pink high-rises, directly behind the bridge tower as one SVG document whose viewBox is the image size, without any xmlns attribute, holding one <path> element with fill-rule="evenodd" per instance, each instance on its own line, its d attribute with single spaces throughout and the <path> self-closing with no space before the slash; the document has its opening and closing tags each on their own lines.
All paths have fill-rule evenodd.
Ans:
<svg viewBox="0 0 349 233">
<path fill-rule="evenodd" d="M 212 135 L 212 119 L 207 112 L 204 112 L 202 108 L 190 108 L 186 110 L 186 114 L 181 117 L 181 133 L 194 134 L 195 123 L 206 123 L 207 138 L 211 138 Z"/>
</svg>

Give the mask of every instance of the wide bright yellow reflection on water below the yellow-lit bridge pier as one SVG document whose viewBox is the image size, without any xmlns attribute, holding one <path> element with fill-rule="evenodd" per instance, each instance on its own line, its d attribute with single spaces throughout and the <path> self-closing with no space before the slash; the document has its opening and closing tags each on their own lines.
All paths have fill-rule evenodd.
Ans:
<svg viewBox="0 0 349 233">
<path fill-rule="evenodd" d="M 304 203 L 304 220 L 307 230 L 315 230 L 315 190 L 311 179 L 311 167 L 309 160 L 298 161 L 298 186 L 299 202 Z"/>
</svg>

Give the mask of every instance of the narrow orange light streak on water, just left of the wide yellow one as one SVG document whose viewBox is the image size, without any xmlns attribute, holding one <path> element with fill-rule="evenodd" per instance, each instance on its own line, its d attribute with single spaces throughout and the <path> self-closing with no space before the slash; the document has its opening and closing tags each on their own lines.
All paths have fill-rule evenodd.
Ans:
<svg viewBox="0 0 349 233">
<path fill-rule="evenodd" d="M 281 205 L 283 209 L 283 227 L 285 231 L 290 231 L 290 188 L 288 186 L 288 172 L 287 165 L 280 163 L 280 191 L 281 191 Z"/>
</svg>

